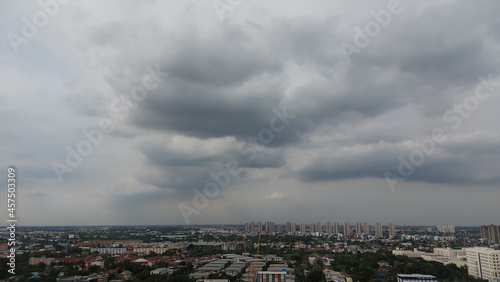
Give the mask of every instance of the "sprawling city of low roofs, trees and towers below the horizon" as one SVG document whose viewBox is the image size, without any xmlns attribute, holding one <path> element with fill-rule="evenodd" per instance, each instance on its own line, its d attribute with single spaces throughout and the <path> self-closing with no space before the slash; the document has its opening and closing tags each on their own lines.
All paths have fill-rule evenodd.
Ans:
<svg viewBox="0 0 500 282">
<path fill-rule="evenodd" d="M 18 227 L 1 281 L 500 282 L 500 226 Z M 10 265 L 9 265 L 10 264 Z"/>
</svg>

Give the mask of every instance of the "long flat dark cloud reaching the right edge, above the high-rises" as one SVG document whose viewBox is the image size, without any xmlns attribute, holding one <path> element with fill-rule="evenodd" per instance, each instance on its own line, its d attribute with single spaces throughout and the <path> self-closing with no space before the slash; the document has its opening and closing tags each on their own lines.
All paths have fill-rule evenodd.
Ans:
<svg viewBox="0 0 500 282">
<path fill-rule="evenodd" d="M 458 185 L 500 184 L 496 173 L 500 164 L 498 136 L 474 135 L 455 137 L 437 144 L 436 152 L 425 156 L 421 165 L 412 165 L 415 172 L 408 181 Z M 297 171 L 304 181 L 383 177 L 386 171 L 398 174 L 401 159 L 409 162 L 410 153 L 417 149 L 401 144 L 379 143 L 372 146 L 353 146 L 334 149 L 329 155 L 314 159 Z M 411 164 L 411 163 L 410 163 Z"/>
</svg>

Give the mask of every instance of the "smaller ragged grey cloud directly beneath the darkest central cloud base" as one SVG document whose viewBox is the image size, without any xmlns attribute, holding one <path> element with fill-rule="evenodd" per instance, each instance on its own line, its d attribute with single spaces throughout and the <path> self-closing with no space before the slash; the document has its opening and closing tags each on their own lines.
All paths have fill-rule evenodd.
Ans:
<svg viewBox="0 0 500 282">
<path fill-rule="evenodd" d="M 226 171 L 228 162 L 236 162 L 241 172 L 231 178 L 231 184 L 238 182 L 239 177 L 247 175 L 246 168 L 279 168 L 286 164 L 281 149 L 263 148 L 256 151 L 255 157 L 239 154 L 236 146 L 227 145 L 215 153 L 206 152 L 206 148 L 193 148 L 185 151 L 160 142 L 142 143 L 139 151 L 146 157 L 149 165 L 155 167 L 138 179 L 158 188 L 173 189 L 171 197 L 183 198 L 192 196 L 192 189 L 203 187 L 214 179 L 210 173 Z"/>
</svg>

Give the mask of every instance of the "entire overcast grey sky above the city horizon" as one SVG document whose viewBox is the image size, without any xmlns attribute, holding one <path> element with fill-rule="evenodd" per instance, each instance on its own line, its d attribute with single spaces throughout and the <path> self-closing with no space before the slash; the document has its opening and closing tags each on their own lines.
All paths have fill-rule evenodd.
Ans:
<svg viewBox="0 0 500 282">
<path fill-rule="evenodd" d="M 500 224 L 499 10 L 2 1 L 0 193 L 19 225 Z"/>
</svg>

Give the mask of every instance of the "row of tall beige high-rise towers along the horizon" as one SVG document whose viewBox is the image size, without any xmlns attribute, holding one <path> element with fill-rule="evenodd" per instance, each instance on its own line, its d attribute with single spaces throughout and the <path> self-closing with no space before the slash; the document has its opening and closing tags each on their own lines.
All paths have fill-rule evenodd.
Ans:
<svg viewBox="0 0 500 282">
<path fill-rule="evenodd" d="M 353 232 L 354 231 L 354 232 Z M 374 225 L 374 236 L 376 238 L 384 238 L 384 228 L 381 222 L 376 222 Z M 390 222 L 388 225 L 389 236 L 396 236 L 396 226 L 394 222 Z M 257 232 L 257 233 L 286 233 L 286 234 L 306 234 L 306 233 L 319 233 L 319 234 L 330 234 L 338 235 L 343 234 L 344 236 L 351 235 L 372 235 L 370 224 L 368 222 L 357 222 L 354 230 L 351 228 L 349 222 L 344 222 L 342 226 L 338 222 L 327 222 L 322 225 L 321 222 L 316 223 L 300 223 L 296 224 L 293 222 L 286 222 L 286 224 L 275 225 L 272 221 L 266 221 L 264 224 L 262 221 L 251 221 L 245 223 L 245 232 Z"/>
</svg>

